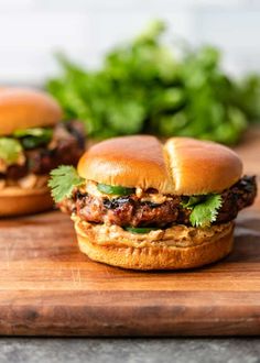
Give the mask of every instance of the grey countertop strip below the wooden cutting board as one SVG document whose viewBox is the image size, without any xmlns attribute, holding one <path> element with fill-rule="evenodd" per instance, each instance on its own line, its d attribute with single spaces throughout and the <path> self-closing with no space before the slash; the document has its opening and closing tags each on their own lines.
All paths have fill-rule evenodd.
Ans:
<svg viewBox="0 0 260 363">
<path fill-rule="evenodd" d="M 0 362 L 257 363 L 260 340 L 2 338 Z"/>
</svg>

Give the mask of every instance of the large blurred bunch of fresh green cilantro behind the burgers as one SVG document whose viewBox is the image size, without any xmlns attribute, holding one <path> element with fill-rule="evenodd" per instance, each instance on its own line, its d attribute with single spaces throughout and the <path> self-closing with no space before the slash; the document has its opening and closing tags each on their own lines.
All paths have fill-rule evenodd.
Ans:
<svg viewBox="0 0 260 363">
<path fill-rule="evenodd" d="M 62 75 L 46 88 L 96 139 L 154 133 L 237 143 L 247 120 L 260 118 L 260 77 L 238 84 L 221 69 L 217 48 L 174 47 L 165 31 L 153 22 L 110 51 L 98 70 L 58 55 Z"/>
</svg>

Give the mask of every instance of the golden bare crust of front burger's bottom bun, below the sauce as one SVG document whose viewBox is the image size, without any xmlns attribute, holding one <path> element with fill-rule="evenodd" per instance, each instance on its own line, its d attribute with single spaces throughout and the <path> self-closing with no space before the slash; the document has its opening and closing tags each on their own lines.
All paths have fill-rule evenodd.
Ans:
<svg viewBox="0 0 260 363">
<path fill-rule="evenodd" d="M 108 265 L 131 270 L 182 270 L 199 267 L 225 257 L 232 249 L 234 224 L 226 229 L 226 233 L 205 239 L 203 243 L 187 248 L 174 245 L 150 245 L 137 248 L 120 245 L 108 241 L 97 243 L 78 226 L 75 226 L 79 250 L 89 258 Z"/>
</svg>

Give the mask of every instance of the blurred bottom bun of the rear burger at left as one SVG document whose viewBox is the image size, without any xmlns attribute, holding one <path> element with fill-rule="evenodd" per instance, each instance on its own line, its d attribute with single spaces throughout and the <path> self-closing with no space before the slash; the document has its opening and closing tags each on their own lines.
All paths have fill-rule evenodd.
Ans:
<svg viewBox="0 0 260 363">
<path fill-rule="evenodd" d="M 0 217 L 14 217 L 42 212 L 53 208 L 47 187 L 22 189 L 8 187 L 0 190 Z"/>
</svg>

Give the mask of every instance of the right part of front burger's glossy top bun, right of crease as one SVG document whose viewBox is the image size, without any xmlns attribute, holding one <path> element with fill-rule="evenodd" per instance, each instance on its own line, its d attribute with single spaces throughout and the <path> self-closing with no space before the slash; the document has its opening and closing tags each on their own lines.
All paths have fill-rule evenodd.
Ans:
<svg viewBox="0 0 260 363">
<path fill-rule="evenodd" d="M 178 195 L 221 193 L 242 174 L 242 163 L 230 148 L 209 141 L 172 138 L 164 145 Z"/>
</svg>

